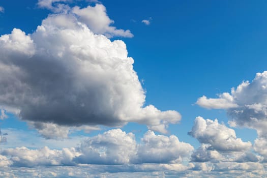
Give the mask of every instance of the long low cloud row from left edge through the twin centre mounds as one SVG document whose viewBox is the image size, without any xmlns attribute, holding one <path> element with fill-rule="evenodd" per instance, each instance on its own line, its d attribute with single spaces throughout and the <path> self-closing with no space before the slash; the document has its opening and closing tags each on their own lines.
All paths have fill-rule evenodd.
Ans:
<svg viewBox="0 0 267 178">
<path fill-rule="evenodd" d="M 75 164 L 126 165 L 160 163 L 163 169 L 181 169 L 180 162 L 190 156 L 193 146 L 148 131 L 137 144 L 133 133 L 113 129 L 94 137 L 88 137 L 76 148 L 50 150 L 47 146 L 31 150 L 27 147 L 5 149 L 1 154 L 16 167 L 58 166 Z M 10 163 L 10 164 L 11 164 Z M 180 165 L 180 168 L 179 168 Z M 159 165 L 146 165 L 157 169 Z M 178 167 L 176 167 L 178 166 Z M 140 168 L 141 169 L 141 168 Z M 184 168 L 183 168 L 184 169 Z"/>
</svg>

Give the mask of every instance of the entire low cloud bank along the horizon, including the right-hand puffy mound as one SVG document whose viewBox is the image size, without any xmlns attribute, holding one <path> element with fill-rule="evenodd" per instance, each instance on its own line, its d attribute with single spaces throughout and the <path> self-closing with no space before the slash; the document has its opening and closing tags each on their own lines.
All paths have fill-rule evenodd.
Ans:
<svg viewBox="0 0 267 178">
<path fill-rule="evenodd" d="M 217 129 L 222 133 L 216 132 Z M 263 158 L 249 151 L 251 143 L 236 138 L 235 132 L 223 124 L 197 117 L 190 133 L 201 143 L 197 150 L 175 135 L 157 135 L 153 131 L 147 131 L 138 143 L 133 133 L 126 133 L 121 129 L 87 137 L 76 147 L 60 150 L 49 149 L 47 146 L 40 149 L 29 149 L 25 146 L 6 148 L 0 154 L 0 175 L 3 173 L 1 170 L 9 169 L 12 174 L 21 167 L 35 171 L 38 167 L 42 176 L 50 171 L 55 173 L 53 176 L 67 176 L 65 171 L 57 169 L 68 169 L 69 176 L 74 177 L 86 177 L 85 172 L 92 177 L 96 176 L 94 173 L 103 172 L 107 176 L 119 172 L 125 172 L 126 175 L 127 172 L 143 172 L 145 175 L 157 172 L 187 177 L 196 177 L 199 174 L 210 177 L 221 172 L 223 175 L 243 173 L 244 176 L 249 175 L 249 172 L 253 172 L 251 175 L 264 174 Z M 217 140 L 219 141 L 216 142 Z M 235 144 L 231 145 L 231 142 Z M 47 167 L 49 171 L 44 170 Z M 83 168 L 87 169 L 83 175 L 73 172 Z M 35 171 L 24 172 L 22 175 Z"/>
</svg>

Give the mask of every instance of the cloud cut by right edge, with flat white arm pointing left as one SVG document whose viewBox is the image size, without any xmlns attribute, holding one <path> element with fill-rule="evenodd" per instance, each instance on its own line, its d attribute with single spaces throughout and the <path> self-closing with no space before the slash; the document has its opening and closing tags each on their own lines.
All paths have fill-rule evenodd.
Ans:
<svg viewBox="0 0 267 178">
<path fill-rule="evenodd" d="M 231 94 L 223 95 L 227 97 L 199 98 L 197 104 L 208 106 L 207 108 L 226 109 L 231 126 L 255 129 L 258 138 L 255 140 L 254 149 L 266 159 L 267 151 L 263 145 L 267 142 L 267 71 L 257 73 L 251 83 L 243 81 L 236 89 L 232 88 Z M 225 98 L 228 98 L 228 103 L 220 106 L 221 100 Z"/>
</svg>

